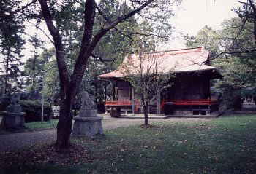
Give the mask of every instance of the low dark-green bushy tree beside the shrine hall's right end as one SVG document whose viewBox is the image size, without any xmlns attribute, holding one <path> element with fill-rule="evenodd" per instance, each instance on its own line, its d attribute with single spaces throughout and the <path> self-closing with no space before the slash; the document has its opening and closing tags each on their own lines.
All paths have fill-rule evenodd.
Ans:
<svg viewBox="0 0 256 174">
<path fill-rule="evenodd" d="M 230 58 L 218 58 L 214 66 L 221 69 L 223 79 L 218 80 L 214 87 L 222 92 L 220 109 L 235 108 L 240 109 L 242 98 L 248 87 L 255 84 L 254 76 L 251 74 L 252 67 L 241 63 L 241 59 L 235 56 Z M 254 95 L 252 95 L 254 96 Z"/>
</svg>

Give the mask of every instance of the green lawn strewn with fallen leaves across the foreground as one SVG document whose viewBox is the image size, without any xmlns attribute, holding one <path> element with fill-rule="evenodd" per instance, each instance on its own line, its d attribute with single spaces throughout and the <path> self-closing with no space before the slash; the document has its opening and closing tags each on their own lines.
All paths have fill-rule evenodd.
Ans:
<svg viewBox="0 0 256 174">
<path fill-rule="evenodd" d="M 37 151 L 33 160 L 24 150 L 2 153 L 0 173 L 256 173 L 256 115 L 162 122 L 105 134 L 73 138 L 66 154 L 50 151 L 49 145 L 28 149 Z M 42 151 L 50 152 L 45 157 Z"/>
</svg>

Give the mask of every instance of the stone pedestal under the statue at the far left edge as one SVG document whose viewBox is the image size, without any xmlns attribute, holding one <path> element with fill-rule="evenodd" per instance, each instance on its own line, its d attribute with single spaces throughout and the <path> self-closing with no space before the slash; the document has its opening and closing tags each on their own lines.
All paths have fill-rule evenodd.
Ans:
<svg viewBox="0 0 256 174">
<path fill-rule="evenodd" d="M 1 120 L 1 129 L 4 130 L 20 130 L 25 128 L 25 113 L 1 112 L 3 119 Z"/>
</svg>

